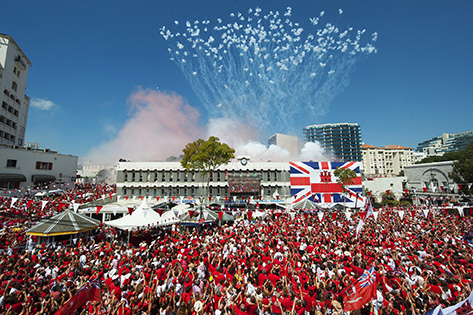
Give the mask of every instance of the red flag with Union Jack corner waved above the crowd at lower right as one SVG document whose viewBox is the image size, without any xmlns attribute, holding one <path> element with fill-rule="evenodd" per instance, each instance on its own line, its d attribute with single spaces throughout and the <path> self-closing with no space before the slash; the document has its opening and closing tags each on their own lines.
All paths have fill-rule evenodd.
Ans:
<svg viewBox="0 0 473 315">
<path fill-rule="evenodd" d="M 343 311 L 359 310 L 366 303 L 376 298 L 376 274 L 374 268 L 365 270 L 363 275 L 340 293 L 343 297 Z"/>
</svg>

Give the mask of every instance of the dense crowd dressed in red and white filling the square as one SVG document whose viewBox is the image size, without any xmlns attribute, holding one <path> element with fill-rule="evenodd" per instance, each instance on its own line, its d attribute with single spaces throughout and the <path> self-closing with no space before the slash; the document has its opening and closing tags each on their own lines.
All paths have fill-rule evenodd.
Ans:
<svg viewBox="0 0 473 315">
<path fill-rule="evenodd" d="M 371 267 L 376 298 L 352 314 L 425 314 L 466 299 L 473 258 L 462 236 L 472 217 L 406 213 L 381 211 L 358 236 L 360 216 L 283 213 L 202 230 L 154 228 L 139 246 L 104 225 L 103 240 L 2 251 L 0 311 L 55 314 L 97 280 L 100 301 L 76 314 L 344 314 L 340 293 Z"/>
</svg>

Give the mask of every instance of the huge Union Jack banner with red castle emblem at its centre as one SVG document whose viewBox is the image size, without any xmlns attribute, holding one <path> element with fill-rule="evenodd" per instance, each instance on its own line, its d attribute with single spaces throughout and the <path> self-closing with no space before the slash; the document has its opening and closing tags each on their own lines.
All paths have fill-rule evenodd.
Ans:
<svg viewBox="0 0 473 315">
<path fill-rule="evenodd" d="M 289 162 L 291 175 L 291 196 L 293 203 L 304 199 L 314 202 L 343 203 L 353 205 L 358 199 L 363 205 L 360 162 Z M 348 192 L 342 194 L 333 172 L 338 168 L 356 172 L 353 185 L 347 185 Z"/>
</svg>

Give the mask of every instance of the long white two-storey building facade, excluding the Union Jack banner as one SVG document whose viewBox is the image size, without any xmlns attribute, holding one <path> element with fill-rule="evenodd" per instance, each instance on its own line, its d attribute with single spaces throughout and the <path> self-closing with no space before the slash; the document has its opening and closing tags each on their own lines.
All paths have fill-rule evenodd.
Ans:
<svg viewBox="0 0 473 315">
<path fill-rule="evenodd" d="M 233 181 L 235 184 L 229 185 Z M 246 185 L 235 189 L 239 185 Z M 258 191 L 253 191 L 253 186 Z M 251 162 L 242 158 L 210 174 L 209 196 L 286 199 L 291 196 L 288 162 Z M 117 195 L 199 197 L 207 195 L 207 178 L 180 162 L 118 162 Z"/>
</svg>

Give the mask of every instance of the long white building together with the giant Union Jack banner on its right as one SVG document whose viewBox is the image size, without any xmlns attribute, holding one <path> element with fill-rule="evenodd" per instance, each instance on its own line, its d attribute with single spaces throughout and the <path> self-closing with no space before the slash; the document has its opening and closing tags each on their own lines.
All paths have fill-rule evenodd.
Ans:
<svg viewBox="0 0 473 315">
<path fill-rule="evenodd" d="M 253 199 L 261 200 L 263 204 L 286 205 L 304 198 L 316 198 L 316 202 L 325 207 L 342 203 L 356 207 L 363 202 L 361 176 L 357 177 L 359 183 L 350 188 L 353 193 L 342 198 L 342 190 L 333 175 L 336 167 L 342 164 L 358 173 L 361 163 L 257 162 L 241 157 L 211 172 L 207 189 L 207 176 L 203 178 L 197 170 L 188 171 L 179 162 L 118 162 L 116 187 L 117 195 L 125 198 L 160 197 L 186 201 L 209 196 L 212 203 L 219 204 L 246 203 Z"/>
</svg>

